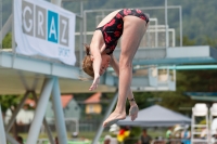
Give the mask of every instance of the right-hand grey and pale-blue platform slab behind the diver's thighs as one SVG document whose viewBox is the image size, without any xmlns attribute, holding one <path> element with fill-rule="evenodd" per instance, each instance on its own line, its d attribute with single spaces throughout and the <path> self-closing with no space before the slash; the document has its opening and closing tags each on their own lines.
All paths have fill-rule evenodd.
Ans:
<svg viewBox="0 0 217 144">
<path fill-rule="evenodd" d="M 118 56 L 120 49 L 114 51 Z M 180 65 L 193 63 L 216 63 L 217 49 L 209 45 L 174 47 L 174 48 L 139 48 L 133 65 Z"/>
</svg>

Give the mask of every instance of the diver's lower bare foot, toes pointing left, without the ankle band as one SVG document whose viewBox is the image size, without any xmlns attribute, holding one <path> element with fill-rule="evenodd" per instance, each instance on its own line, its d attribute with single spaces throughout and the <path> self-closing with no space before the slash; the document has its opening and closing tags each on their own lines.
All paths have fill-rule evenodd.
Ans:
<svg viewBox="0 0 217 144">
<path fill-rule="evenodd" d="M 103 127 L 110 127 L 116 123 L 118 120 L 123 120 L 126 118 L 126 114 L 118 114 L 113 112 L 110 117 L 103 122 Z"/>
</svg>

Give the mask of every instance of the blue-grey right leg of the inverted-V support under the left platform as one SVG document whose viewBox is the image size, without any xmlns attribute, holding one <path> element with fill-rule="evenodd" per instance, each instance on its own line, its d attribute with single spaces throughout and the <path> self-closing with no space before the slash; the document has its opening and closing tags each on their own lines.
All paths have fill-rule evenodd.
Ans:
<svg viewBox="0 0 217 144">
<path fill-rule="evenodd" d="M 58 139 L 60 144 L 67 144 L 67 134 L 65 128 L 65 120 L 63 114 L 63 107 L 61 103 L 61 91 L 59 87 L 58 77 L 54 80 L 53 90 L 52 90 L 52 102 L 55 119 L 55 128 L 58 131 Z"/>
</svg>

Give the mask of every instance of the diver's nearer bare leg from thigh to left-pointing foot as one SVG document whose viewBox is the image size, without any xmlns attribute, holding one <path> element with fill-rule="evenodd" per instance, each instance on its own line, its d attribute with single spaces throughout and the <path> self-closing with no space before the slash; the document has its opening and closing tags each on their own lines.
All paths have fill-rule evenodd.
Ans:
<svg viewBox="0 0 217 144">
<path fill-rule="evenodd" d="M 119 91 L 115 110 L 104 121 L 108 126 L 119 119 L 126 118 L 126 100 L 132 78 L 132 58 L 139 48 L 140 41 L 146 29 L 145 21 L 136 16 L 126 16 L 122 37 L 122 52 L 119 56 Z M 136 102 L 135 102 L 136 105 Z M 133 106 L 133 104 L 132 104 Z M 135 120 L 135 118 L 132 119 Z"/>
</svg>

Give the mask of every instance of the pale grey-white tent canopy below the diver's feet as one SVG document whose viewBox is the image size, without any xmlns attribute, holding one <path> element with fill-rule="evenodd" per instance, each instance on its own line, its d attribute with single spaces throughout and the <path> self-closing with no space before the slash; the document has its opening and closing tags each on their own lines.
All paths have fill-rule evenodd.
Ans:
<svg viewBox="0 0 217 144">
<path fill-rule="evenodd" d="M 131 121 L 128 116 L 125 120 L 119 120 L 119 126 L 140 126 L 140 127 L 170 127 L 175 125 L 190 125 L 191 119 L 169 110 L 159 105 L 153 105 L 141 109 L 138 113 L 138 118 Z"/>
</svg>

